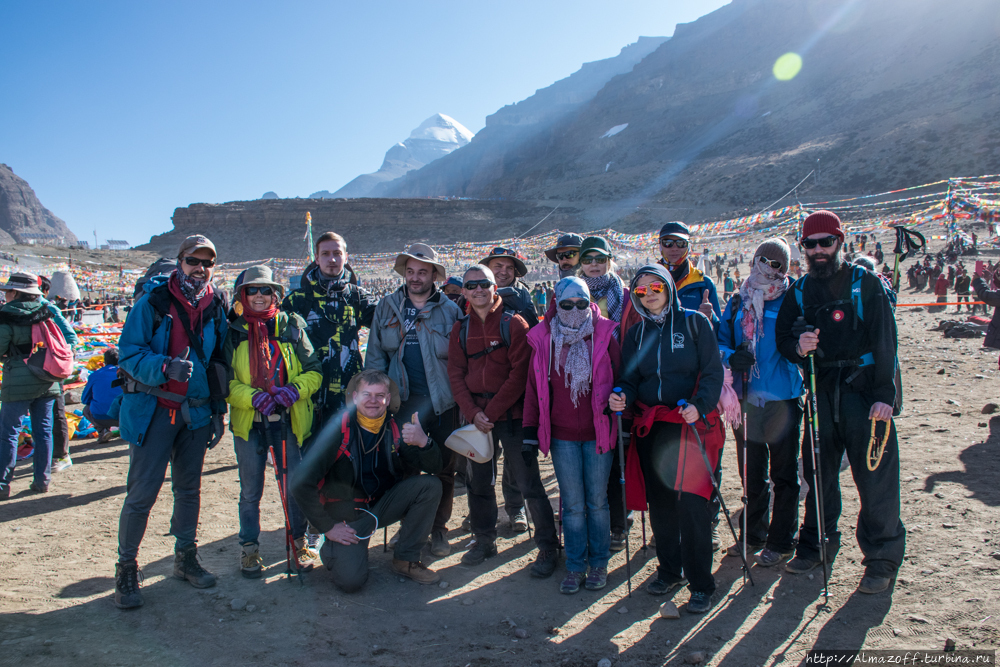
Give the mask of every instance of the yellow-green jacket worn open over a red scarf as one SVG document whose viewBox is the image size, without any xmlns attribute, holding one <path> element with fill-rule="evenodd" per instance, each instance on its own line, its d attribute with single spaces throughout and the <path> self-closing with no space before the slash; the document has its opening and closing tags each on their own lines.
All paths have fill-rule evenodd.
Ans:
<svg viewBox="0 0 1000 667">
<path fill-rule="evenodd" d="M 299 390 L 299 400 L 292 405 L 289 413 L 292 432 L 301 447 L 312 433 L 312 395 L 323 382 L 323 367 L 306 335 L 305 320 L 294 313 L 289 316 L 279 311 L 274 323 L 278 346 L 288 371 L 288 384 L 295 385 Z M 229 376 L 229 398 L 226 399 L 232 407 L 229 428 L 234 435 L 244 440 L 249 439 L 250 428 L 253 426 L 253 396 L 260 391 L 251 386 L 247 330 L 247 321 L 243 316 L 238 317 L 229 325 L 225 343 L 226 358 L 232 369 Z"/>
</svg>

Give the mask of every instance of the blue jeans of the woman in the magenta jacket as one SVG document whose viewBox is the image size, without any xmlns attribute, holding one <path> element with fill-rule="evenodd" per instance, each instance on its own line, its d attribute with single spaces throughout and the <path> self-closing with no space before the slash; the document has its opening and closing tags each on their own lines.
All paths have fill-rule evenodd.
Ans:
<svg viewBox="0 0 1000 667">
<path fill-rule="evenodd" d="M 611 550 L 608 475 L 615 452 L 597 453 L 597 443 L 552 440 L 552 466 L 559 481 L 566 542 L 566 569 L 607 567 Z"/>
</svg>

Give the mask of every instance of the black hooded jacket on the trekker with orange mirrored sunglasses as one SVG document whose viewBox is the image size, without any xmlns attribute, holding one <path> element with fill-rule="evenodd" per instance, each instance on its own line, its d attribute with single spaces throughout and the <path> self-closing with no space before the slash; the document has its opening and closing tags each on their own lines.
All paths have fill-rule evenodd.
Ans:
<svg viewBox="0 0 1000 667">
<path fill-rule="evenodd" d="M 653 274 L 667 284 L 669 312 L 662 324 L 654 322 L 635 296 L 639 277 Z M 662 266 L 639 269 L 629 285 L 632 305 L 642 321 L 625 334 L 623 373 L 619 385 L 625 400 L 646 405 L 676 407 L 684 399 L 707 415 L 719 402 L 725 370 L 712 323 L 701 312 L 681 307 L 673 279 Z M 692 336 L 694 341 L 691 340 Z M 695 387 L 697 386 L 697 393 Z"/>
</svg>

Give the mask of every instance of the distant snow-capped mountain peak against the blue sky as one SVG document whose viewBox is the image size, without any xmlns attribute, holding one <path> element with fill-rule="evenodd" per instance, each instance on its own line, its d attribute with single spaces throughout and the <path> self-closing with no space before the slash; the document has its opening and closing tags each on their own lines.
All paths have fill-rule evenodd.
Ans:
<svg viewBox="0 0 1000 667">
<path fill-rule="evenodd" d="M 457 120 L 444 114 L 434 114 L 411 132 L 408 139 L 386 151 L 378 171 L 362 174 L 332 194 L 328 190 L 321 190 L 309 197 L 327 199 L 373 196 L 377 186 L 434 162 L 466 145 L 471 139 L 472 132 Z"/>
</svg>

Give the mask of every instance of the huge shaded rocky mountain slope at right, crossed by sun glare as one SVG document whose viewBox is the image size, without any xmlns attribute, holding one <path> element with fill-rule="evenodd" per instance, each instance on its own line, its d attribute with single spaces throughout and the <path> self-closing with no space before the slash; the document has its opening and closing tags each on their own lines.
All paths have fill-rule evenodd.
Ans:
<svg viewBox="0 0 1000 667">
<path fill-rule="evenodd" d="M 998 26 L 996 0 L 734 0 L 538 139 L 479 157 L 487 125 L 388 194 L 572 202 L 647 228 L 762 207 L 817 167 L 814 193 L 995 173 Z M 789 52 L 801 71 L 778 80 Z"/>
</svg>

